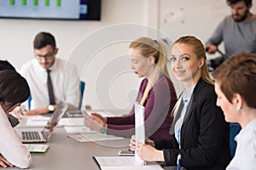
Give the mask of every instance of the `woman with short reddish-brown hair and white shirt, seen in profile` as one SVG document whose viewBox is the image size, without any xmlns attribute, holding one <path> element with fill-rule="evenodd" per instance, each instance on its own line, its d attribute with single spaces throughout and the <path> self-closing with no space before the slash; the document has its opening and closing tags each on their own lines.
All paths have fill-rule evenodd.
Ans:
<svg viewBox="0 0 256 170">
<path fill-rule="evenodd" d="M 256 167 L 256 55 L 236 54 L 212 72 L 215 79 L 217 105 L 227 122 L 237 122 L 241 131 L 236 135 L 236 153 L 230 169 Z"/>
</svg>

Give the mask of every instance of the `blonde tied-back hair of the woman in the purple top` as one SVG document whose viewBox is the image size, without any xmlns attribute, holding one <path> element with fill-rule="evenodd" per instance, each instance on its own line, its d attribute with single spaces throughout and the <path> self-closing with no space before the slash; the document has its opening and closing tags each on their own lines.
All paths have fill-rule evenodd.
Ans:
<svg viewBox="0 0 256 170">
<path fill-rule="evenodd" d="M 160 40 L 153 40 L 150 37 L 139 37 L 135 41 L 131 42 L 129 48 L 140 49 L 144 57 L 154 56 L 155 65 L 160 68 L 160 71 L 170 79 L 170 75 L 167 70 L 167 58 L 166 58 L 166 45 Z"/>
</svg>

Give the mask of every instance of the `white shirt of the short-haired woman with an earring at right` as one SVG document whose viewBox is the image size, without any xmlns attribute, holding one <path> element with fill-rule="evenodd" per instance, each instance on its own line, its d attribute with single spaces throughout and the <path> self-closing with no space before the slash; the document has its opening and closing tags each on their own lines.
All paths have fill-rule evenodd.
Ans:
<svg viewBox="0 0 256 170">
<path fill-rule="evenodd" d="M 235 140 L 236 153 L 226 169 L 256 169 L 256 119 L 241 129 Z"/>
</svg>

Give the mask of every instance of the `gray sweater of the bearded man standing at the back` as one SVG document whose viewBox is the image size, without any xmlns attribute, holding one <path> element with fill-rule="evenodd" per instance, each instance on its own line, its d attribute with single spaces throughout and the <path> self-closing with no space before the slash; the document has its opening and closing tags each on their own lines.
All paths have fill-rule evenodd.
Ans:
<svg viewBox="0 0 256 170">
<path fill-rule="evenodd" d="M 236 22 L 231 15 L 225 17 L 206 44 L 218 46 L 222 41 L 227 56 L 242 51 L 256 54 L 256 18 L 243 23 Z"/>
</svg>

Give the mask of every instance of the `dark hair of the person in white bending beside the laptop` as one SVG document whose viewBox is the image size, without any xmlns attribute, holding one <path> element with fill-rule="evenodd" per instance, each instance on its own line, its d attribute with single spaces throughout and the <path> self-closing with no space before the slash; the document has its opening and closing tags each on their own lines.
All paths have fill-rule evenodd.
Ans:
<svg viewBox="0 0 256 170">
<path fill-rule="evenodd" d="M 12 70 L 0 71 L 0 102 L 9 102 L 9 107 L 26 101 L 30 95 L 24 77 Z"/>
</svg>

